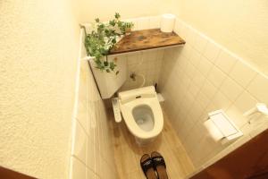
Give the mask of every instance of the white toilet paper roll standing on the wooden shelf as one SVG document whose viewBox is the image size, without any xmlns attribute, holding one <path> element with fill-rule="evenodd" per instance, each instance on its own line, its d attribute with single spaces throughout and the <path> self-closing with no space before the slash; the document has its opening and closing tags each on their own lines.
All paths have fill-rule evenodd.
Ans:
<svg viewBox="0 0 268 179">
<path fill-rule="evenodd" d="M 161 19 L 161 31 L 172 32 L 174 28 L 176 16 L 171 13 L 165 13 Z"/>
</svg>

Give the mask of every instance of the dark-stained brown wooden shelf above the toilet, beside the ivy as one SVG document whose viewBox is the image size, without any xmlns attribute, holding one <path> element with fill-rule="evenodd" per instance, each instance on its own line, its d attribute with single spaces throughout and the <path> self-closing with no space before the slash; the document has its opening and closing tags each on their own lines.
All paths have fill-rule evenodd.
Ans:
<svg viewBox="0 0 268 179">
<path fill-rule="evenodd" d="M 116 47 L 111 50 L 110 55 L 183 44 L 185 44 L 184 39 L 175 32 L 164 33 L 160 29 L 136 30 L 121 38 Z"/>
</svg>

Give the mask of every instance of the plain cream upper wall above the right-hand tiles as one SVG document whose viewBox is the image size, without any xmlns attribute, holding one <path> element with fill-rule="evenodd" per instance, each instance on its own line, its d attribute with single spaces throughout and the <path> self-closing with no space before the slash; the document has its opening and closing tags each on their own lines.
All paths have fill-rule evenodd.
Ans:
<svg viewBox="0 0 268 179">
<path fill-rule="evenodd" d="M 268 2 L 180 0 L 180 18 L 268 74 Z"/>
</svg>

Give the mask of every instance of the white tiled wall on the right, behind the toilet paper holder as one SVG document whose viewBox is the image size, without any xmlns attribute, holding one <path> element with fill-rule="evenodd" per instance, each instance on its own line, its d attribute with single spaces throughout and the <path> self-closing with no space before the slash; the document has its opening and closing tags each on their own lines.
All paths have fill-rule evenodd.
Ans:
<svg viewBox="0 0 268 179">
<path fill-rule="evenodd" d="M 264 131 L 264 117 L 248 124 L 243 114 L 257 102 L 268 104 L 268 78 L 187 23 L 177 20 L 175 31 L 186 45 L 164 51 L 159 88 L 164 108 L 198 168 Z M 243 137 L 224 145 L 210 138 L 204 122 L 207 113 L 218 109 L 239 126 Z"/>
</svg>

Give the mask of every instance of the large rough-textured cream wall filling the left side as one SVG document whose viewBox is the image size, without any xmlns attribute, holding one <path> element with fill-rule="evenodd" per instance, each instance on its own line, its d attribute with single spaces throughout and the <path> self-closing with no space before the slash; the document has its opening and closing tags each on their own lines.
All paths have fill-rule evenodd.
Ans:
<svg viewBox="0 0 268 179">
<path fill-rule="evenodd" d="M 0 2 L 0 166 L 38 178 L 68 175 L 79 47 L 71 3 Z"/>
</svg>

